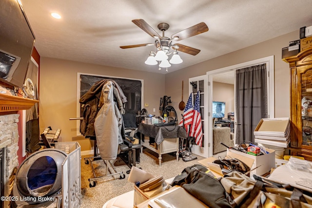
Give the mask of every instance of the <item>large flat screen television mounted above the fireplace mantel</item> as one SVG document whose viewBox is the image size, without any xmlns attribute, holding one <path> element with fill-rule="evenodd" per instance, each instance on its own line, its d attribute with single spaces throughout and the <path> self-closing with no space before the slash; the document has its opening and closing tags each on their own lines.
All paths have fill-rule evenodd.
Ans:
<svg viewBox="0 0 312 208">
<path fill-rule="evenodd" d="M 21 88 L 35 35 L 18 0 L 0 0 L 0 81 Z"/>
</svg>

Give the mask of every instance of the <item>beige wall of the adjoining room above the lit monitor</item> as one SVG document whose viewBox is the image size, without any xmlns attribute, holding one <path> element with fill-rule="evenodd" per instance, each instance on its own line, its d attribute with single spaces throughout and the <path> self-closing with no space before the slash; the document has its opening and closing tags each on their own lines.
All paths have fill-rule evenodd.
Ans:
<svg viewBox="0 0 312 208">
<path fill-rule="evenodd" d="M 224 118 L 234 112 L 234 84 L 213 83 L 213 101 L 225 102 Z"/>
</svg>

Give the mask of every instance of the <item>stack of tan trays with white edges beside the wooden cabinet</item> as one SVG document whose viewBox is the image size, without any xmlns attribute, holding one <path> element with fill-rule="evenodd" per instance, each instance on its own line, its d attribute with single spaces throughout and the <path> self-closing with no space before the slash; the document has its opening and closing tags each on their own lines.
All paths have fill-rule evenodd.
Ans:
<svg viewBox="0 0 312 208">
<path fill-rule="evenodd" d="M 256 143 L 287 148 L 290 143 L 289 118 L 263 118 L 254 130 Z"/>
</svg>

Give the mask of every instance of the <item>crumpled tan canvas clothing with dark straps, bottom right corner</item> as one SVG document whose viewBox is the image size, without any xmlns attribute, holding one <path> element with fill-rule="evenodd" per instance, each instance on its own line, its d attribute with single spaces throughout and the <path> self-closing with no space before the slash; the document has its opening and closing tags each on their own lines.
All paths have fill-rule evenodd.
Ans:
<svg viewBox="0 0 312 208">
<path fill-rule="evenodd" d="M 301 190 L 265 184 L 241 172 L 225 175 L 221 184 L 233 208 L 312 208 L 312 197 Z"/>
</svg>

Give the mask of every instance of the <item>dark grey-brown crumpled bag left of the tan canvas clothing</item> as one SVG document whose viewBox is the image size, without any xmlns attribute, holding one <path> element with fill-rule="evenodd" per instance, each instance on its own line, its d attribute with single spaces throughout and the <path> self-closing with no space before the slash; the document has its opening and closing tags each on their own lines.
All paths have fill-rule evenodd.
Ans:
<svg viewBox="0 0 312 208">
<path fill-rule="evenodd" d="M 174 178 L 171 186 L 180 185 L 210 208 L 232 208 L 221 183 L 208 171 L 198 164 L 187 167 Z"/>
</svg>

